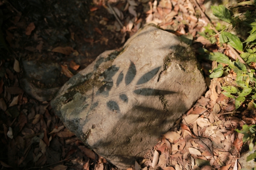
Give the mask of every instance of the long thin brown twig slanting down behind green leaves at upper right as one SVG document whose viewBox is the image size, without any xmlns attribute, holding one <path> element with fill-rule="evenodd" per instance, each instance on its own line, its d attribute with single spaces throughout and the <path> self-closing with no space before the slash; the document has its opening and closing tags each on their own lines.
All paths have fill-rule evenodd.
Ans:
<svg viewBox="0 0 256 170">
<path fill-rule="evenodd" d="M 204 13 L 204 11 L 201 9 L 201 7 L 198 5 L 198 2 L 196 0 L 193 0 L 195 3 L 195 6 L 198 8 L 198 10 L 201 12 L 201 15 L 206 18 L 207 22 L 211 25 L 212 29 L 218 34 L 219 31 L 216 30 L 216 28 L 213 26 L 212 22 L 209 20 L 207 15 Z M 230 48 L 230 50 L 236 55 L 236 57 L 239 59 L 239 61 L 243 64 L 245 64 L 247 69 L 250 69 L 250 66 L 240 57 L 240 55 L 237 53 L 237 51 L 231 47 L 229 44 L 227 44 L 227 47 Z"/>
</svg>

